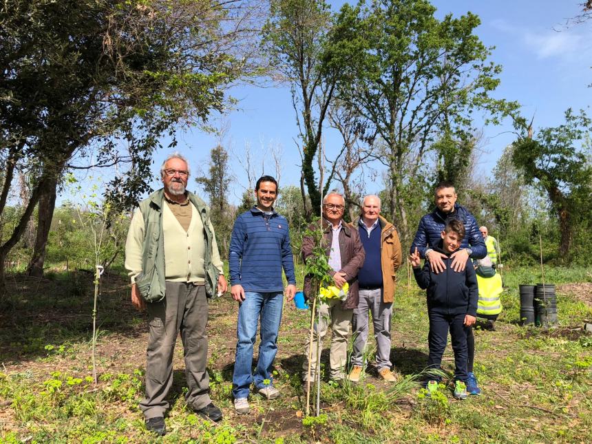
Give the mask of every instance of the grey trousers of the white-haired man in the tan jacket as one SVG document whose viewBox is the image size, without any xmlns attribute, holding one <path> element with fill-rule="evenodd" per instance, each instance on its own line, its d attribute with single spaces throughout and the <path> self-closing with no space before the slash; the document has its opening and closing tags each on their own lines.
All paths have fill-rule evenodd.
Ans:
<svg viewBox="0 0 592 444">
<path fill-rule="evenodd" d="M 360 302 L 354 309 L 352 332 L 354 345 L 352 349 L 352 366 L 363 366 L 363 352 L 368 341 L 368 312 L 372 313 L 374 339 L 376 339 L 377 370 L 390 370 L 390 321 L 392 318 L 392 302 L 385 304 L 382 300 L 382 288 L 376 290 L 359 290 Z"/>
</svg>

